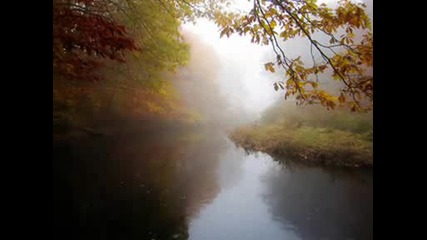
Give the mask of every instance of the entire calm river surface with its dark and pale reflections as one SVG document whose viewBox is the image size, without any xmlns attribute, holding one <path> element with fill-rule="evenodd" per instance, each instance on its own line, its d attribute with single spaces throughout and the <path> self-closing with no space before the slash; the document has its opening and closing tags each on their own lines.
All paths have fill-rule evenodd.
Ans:
<svg viewBox="0 0 427 240">
<path fill-rule="evenodd" d="M 224 135 L 54 145 L 54 239 L 372 239 L 372 171 L 279 164 Z"/>
</svg>

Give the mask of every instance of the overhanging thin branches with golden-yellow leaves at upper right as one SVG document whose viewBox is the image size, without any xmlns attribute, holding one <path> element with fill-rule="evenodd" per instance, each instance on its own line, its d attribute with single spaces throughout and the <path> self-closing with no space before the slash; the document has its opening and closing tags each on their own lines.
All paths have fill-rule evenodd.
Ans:
<svg viewBox="0 0 427 240">
<path fill-rule="evenodd" d="M 253 0 L 248 14 L 223 13 L 214 20 L 221 37 L 238 33 L 251 36 L 254 43 L 272 46 L 276 57 L 265 69 L 284 71 L 284 80 L 274 88 L 286 90 L 285 99 L 294 96 L 298 104 L 368 111 L 373 107 L 373 35 L 365 7 L 350 0 L 340 0 L 335 10 L 316 0 Z M 319 40 L 322 36 L 329 42 Z M 301 56 L 290 59 L 281 46 L 282 41 L 296 37 L 309 40 L 310 65 Z M 338 96 L 321 89 L 320 74 L 342 83 Z"/>
</svg>

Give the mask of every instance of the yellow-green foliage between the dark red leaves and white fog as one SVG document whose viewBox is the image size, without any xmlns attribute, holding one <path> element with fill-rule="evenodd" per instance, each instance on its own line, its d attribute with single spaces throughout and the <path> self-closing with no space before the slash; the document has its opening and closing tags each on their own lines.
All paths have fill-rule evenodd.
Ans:
<svg viewBox="0 0 427 240">
<path fill-rule="evenodd" d="M 119 72 L 141 87 L 160 90 L 165 82 L 164 72 L 175 72 L 189 60 L 189 46 L 179 31 L 178 9 L 172 3 L 140 0 L 132 2 L 120 15 L 138 51 L 127 56 L 127 64 L 119 66 Z"/>
</svg>

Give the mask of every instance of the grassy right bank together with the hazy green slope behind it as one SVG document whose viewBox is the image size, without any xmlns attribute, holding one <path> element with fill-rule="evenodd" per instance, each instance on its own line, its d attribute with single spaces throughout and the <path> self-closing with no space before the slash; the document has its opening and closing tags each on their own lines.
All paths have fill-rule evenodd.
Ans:
<svg viewBox="0 0 427 240">
<path fill-rule="evenodd" d="M 282 104 L 267 110 L 258 123 L 234 129 L 229 137 L 247 151 L 317 165 L 371 167 L 371 116 Z"/>
</svg>

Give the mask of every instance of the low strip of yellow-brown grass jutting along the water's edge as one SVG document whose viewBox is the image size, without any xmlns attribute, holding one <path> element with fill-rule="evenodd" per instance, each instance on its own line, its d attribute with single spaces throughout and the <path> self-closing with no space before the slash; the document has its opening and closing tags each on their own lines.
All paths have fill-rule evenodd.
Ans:
<svg viewBox="0 0 427 240">
<path fill-rule="evenodd" d="M 372 135 L 332 128 L 268 124 L 230 132 L 246 151 L 261 151 L 315 165 L 372 167 Z"/>
</svg>

